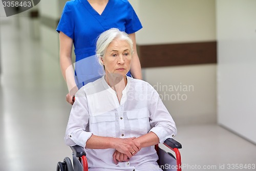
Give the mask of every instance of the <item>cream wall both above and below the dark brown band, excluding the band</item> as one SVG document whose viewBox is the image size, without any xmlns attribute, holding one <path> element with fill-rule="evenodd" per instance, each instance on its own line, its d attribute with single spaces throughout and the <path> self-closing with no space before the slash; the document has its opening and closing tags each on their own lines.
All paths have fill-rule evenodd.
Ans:
<svg viewBox="0 0 256 171">
<path fill-rule="evenodd" d="M 216 40 L 215 0 L 130 0 L 130 3 L 143 25 L 136 33 L 139 45 Z M 171 99 L 179 91 L 158 91 L 178 126 L 217 122 L 216 64 L 144 68 L 143 79 L 155 87 L 157 84 L 158 87 L 194 86 L 194 91 L 181 92 L 187 95 L 185 101 Z"/>
</svg>

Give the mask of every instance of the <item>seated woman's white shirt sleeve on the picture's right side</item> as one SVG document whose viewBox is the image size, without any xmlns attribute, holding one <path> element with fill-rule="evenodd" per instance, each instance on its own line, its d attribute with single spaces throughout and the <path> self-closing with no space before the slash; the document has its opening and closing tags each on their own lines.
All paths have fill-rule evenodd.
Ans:
<svg viewBox="0 0 256 171">
<path fill-rule="evenodd" d="M 148 84 L 148 99 L 149 99 L 149 111 L 150 111 L 150 125 L 151 132 L 154 132 L 160 143 L 163 143 L 167 138 L 173 138 L 176 133 L 175 122 L 170 116 L 168 110 L 161 101 L 157 91 Z"/>
</svg>

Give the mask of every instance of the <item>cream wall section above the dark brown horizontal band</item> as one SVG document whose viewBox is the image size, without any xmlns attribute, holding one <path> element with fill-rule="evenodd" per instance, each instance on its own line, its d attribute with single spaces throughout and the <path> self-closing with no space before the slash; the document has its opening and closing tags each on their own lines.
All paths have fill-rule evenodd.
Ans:
<svg viewBox="0 0 256 171">
<path fill-rule="evenodd" d="M 215 0 L 140 0 L 133 6 L 143 25 L 138 44 L 216 40 Z"/>
</svg>

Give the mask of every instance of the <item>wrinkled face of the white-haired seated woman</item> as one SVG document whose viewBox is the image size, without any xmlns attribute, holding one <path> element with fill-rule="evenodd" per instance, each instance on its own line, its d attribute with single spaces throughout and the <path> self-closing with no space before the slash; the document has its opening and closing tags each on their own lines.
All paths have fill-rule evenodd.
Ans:
<svg viewBox="0 0 256 171">
<path fill-rule="evenodd" d="M 130 70 L 131 46 L 126 40 L 114 39 L 106 48 L 102 63 L 106 74 L 125 76 Z"/>
</svg>

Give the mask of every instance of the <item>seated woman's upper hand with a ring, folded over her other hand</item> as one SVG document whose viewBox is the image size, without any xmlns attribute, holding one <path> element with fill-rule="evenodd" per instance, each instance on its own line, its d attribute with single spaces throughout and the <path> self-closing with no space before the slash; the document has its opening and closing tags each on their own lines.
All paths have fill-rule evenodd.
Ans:
<svg viewBox="0 0 256 171">
<path fill-rule="evenodd" d="M 116 138 L 113 142 L 114 148 L 129 158 L 138 153 L 141 150 L 140 143 L 137 141 L 133 141 L 136 137 L 132 138 Z"/>
</svg>

